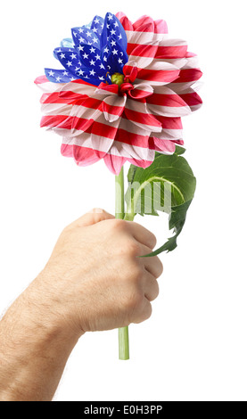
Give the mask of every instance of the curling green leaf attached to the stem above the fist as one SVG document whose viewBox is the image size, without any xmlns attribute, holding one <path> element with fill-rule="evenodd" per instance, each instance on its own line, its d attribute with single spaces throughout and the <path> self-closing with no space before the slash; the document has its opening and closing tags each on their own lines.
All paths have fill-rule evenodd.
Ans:
<svg viewBox="0 0 247 419">
<path fill-rule="evenodd" d="M 177 247 L 177 236 L 185 225 L 196 186 L 192 168 L 181 156 L 184 152 L 185 149 L 177 146 L 171 156 L 156 153 L 149 168 L 132 165 L 129 168 L 126 219 L 133 220 L 136 214 L 158 216 L 159 212 L 166 212 L 169 229 L 174 229 L 174 235 L 163 246 L 145 256 L 173 251 Z"/>
</svg>

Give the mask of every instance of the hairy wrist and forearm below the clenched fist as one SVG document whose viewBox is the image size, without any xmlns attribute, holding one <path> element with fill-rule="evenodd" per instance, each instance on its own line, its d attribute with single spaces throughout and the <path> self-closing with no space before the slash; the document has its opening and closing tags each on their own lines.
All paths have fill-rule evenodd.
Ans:
<svg viewBox="0 0 247 419">
<path fill-rule="evenodd" d="M 0 401 L 51 400 L 78 341 L 48 299 L 45 305 L 44 295 L 38 298 L 36 286 L 14 301 L 0 323 Z"/>
</svg>

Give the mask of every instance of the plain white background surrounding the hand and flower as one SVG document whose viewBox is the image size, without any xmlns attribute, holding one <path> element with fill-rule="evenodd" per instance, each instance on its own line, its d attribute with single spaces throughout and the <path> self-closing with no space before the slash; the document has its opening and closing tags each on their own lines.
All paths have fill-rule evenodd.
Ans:
<svg viewBox="0 0 247 419">
<path fill-rule="evenodd" d="M 33 80 L 56 68 L 70 28 L 122 10 L 165 19 L 204 73 L 203 107 L 184 119 L 185 157 L 197 177 L 177 250 L 162 254 L 152 318 L 130 326 L 131 360 L 117 331 L 88 333 L 72 352 L 55 399 L 247 400 L 245 2 L 28 0 L 1 9 L 0 311 L 36 277 L 62 228 L 97 206 L 114 212 L 103 161 L 78 168 L 61 138 L 39 128 Z M 168 220 L 141 218 L 161 245 Z M 83 256 L 82 256 L 83 257 Z M 100 263 L 100 255 L 99 255 Z"/>
</svg>

